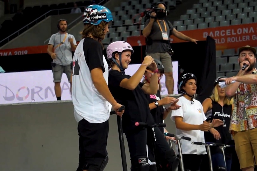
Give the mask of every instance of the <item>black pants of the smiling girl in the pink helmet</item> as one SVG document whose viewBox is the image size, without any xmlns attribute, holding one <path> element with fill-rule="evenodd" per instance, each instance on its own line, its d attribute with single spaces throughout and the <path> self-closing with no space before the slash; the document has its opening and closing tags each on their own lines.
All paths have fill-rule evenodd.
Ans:
<svg viewBox="0 0 257 171">
<path fill-rule="evenodd" d="M 175 154 L 170 149 L 165 137 L 161 133 L 159 128 L 154 128 L 156 137 L 156 154 L 158 155 L 161 164 L 167 164 L 167 160 Z M 152 141 L 154 139 L 151 129 L 137 128 L 126 133 L 126 138 L 129 146 L 129 153 L 131 159 L 131 167 L 136 168 L 139 163 L 139 159 L 147 158 L 146 145 L 149 148 L 152 147 Z M 165 163 L 166 162 L 166 163 Z"/>
</svg>

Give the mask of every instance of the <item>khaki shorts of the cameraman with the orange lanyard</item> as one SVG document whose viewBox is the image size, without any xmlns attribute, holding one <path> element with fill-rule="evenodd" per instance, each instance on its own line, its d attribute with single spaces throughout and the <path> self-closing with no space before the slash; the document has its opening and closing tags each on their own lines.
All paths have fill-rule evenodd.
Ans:
<svg viewBox="0 0 257 171">
<path fill-rule="evenodd" d="M 162 62 L 165 73 L 172 72 L 172 59 L 171 59 L 171 55 L 168 52 L 146 54 L 146 55 L 149 55 L 149 56 L 153 57 L 154 59 L 159 59 Z"/>
</svg>

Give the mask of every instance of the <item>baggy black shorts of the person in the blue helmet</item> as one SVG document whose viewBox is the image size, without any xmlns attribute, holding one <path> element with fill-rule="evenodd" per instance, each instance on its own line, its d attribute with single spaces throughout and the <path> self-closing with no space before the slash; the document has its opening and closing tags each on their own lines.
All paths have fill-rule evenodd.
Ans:
<svg viewBox="0 0 257 171">
<path fill-rule="evenodd" d="M 107 138 L 109 121 L 103 123 L 89 123 L 82 119 L 78 123 L 79 135 L 79 167 L 88 171 L 99 171 L 107 156 Z"/>
</svg>

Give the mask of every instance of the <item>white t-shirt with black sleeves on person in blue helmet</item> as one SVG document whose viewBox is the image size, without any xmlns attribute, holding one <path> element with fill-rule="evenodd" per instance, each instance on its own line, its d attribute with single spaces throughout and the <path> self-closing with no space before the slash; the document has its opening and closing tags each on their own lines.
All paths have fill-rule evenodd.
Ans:
<svg viewBox="0 0 257 171">
<path fill-rule="evenodd" d="M 77 122 L 83 118 L 89 123 L 103 123 L 109 119 L 112 105 L 97 91 L 90 71 L 103 69 L 108 84 L 108 63 L 103 56 L 102 45 L 92 38 L 78 44 L 73 57 L 72 103 Z"/>
</svg>

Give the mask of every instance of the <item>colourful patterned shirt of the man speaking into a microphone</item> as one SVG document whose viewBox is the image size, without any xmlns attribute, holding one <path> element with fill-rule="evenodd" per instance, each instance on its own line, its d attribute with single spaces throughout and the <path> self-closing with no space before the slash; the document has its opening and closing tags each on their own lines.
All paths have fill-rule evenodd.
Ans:
<svg viewBox="0 0 257 171">
<path fill-rule="evenodd" d="M 257 74 L 256 68 L 252 74 Z M 234 95 L 234 109 L 229 130 L 245 131 L 257 127 L 257 84 L 240 83 Z"/>
</svg>

